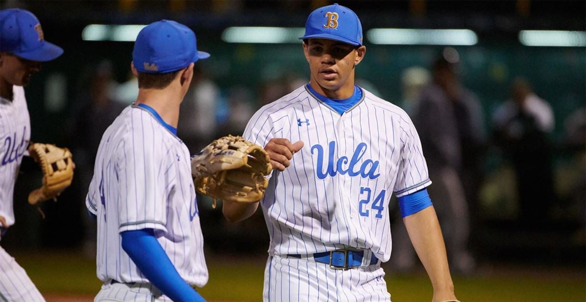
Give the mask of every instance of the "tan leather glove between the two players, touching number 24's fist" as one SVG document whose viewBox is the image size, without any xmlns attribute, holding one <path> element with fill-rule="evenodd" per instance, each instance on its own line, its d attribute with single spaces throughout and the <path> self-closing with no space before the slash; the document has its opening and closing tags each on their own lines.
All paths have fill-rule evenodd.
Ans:
<svg viewBox="0 0 586 302">
<path fill-rule="evenodd" d="M 263 198 L 272 166 L 263 147 L 241 136 L 214 140 L 191 159 L 196 191 L 216 199 L 254 203 Z"/>
</svg>

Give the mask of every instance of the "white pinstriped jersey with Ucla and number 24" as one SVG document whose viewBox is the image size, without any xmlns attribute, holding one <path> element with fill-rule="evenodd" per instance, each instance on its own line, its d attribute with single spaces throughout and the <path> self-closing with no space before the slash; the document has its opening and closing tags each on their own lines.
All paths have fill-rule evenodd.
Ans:
<svg viewBox="0 0 586 302">
<path fill-rule="evenodd" d="M 362 88 L 361 88 L 362 89 Z M 431 184 L 417 131 L 400 108 L 362 90 L 342 115 L 304 87 L 258 110 L 244 137 L 302 140 L 285 171 L 274 171 L 261 206 L 270 255 L 342 248 L 391 253 L 389 199 Z"/>
</svg>

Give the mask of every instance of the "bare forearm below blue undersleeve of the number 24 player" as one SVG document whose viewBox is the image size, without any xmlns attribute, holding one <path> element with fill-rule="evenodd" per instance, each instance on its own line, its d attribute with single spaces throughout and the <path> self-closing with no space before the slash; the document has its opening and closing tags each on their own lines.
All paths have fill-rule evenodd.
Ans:
<svg viewBox="0 0 586 302">
<path fill-rule="evenodd" d="M 434 207 L 403 218 L 413 247 L 423 263 L 434 289 L 433 302 L 456 300 L 449 274 L 444 238 Z"/>
</svg>

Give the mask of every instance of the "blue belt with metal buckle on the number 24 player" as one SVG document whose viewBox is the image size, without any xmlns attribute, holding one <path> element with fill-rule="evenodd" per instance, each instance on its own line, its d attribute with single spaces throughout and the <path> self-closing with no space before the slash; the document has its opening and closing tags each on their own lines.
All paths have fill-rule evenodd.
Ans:
<svg viewBox="0 0 586 302">
<path fill-rule="evenodd" d="M 339 249 L 312 255 L 289 254 L 287 256 L 309 260 L 313 259 L 315 262 L 329 265 L 332 269 L 352 269 L 353 267 L 370 266 L 379 263 L 379 259 L 371 255 L 370 261 L 363 265 L 364 250 Z"/>
</svg>

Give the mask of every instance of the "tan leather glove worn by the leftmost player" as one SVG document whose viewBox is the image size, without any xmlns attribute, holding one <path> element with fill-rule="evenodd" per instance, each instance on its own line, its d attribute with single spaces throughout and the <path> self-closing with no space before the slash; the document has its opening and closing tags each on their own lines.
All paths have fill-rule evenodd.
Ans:
<svg viewBox="0 0 586 302">
<path fill-rule="evenodd" d="M 40 164 L 43 171 L 43 185 L 30 192 L 29 204 L 36 205 L 40 201 L 50 199 L 57 201 L 57 196 L 69 187 L 73 180 L 75 164 L 71 160 L 71 152 L 67 148 L 55 145 L 31 143 L 29 154 Z"/>
</svg>

